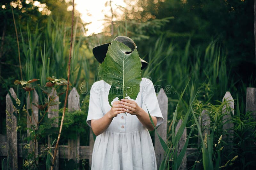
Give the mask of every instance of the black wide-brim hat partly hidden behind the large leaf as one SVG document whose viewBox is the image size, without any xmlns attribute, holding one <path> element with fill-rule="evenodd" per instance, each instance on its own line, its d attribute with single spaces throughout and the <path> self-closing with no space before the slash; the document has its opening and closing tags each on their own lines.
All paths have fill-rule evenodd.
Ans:
<svg viewBox="0 0 256 170">
<path fill-rule="evenodd" d="M 128 46 L 132 51 L 136 48 L 135 43 L 129 37 L 118 36 L 114 40 L 119 41 L 119 42 L 123 43 L 124 45 Z M 106 57 L 109 44 L 111 44 L 111 43 L 102 44 L 102 45 L 96 46 L 92 49 L 92 53 L 93 53 L 94 57 L 100 63 L 102 63 Z M 141 58 L 140 58 L 140 61 L 141 61 L 141 70 L 142 70 L 143 68 L 147 67 L 148 62 Z"/>
</svg>

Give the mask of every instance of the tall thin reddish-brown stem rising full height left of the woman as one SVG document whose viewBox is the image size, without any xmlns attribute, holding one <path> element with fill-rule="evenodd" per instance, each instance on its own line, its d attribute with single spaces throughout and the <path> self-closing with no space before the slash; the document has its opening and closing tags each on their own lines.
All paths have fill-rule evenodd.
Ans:
<svg viewBox="0 0 256 170">
<path fill-rule="evenodd" d="M 72 2 L 71 41 L 70 41 L 70 50 L 69 50 L 69 59 L 68 59 L 68 83 L 67 83 L 66 97 L 65 97 L 65 103 L 64 103 L 64 110 L 63 110 L 62 118 L 61 118 L 61 122 L 60 122 L 60 131 L 59 131 L 56 147 L 55 147 L 55 150 L 54 150 L 54 156 L 53 156 L 53 160 L 52 160 L 51 170 L 53 170 L 54 161 L 55 161 L 57 150 L 58 150 L 58 146 L 59 146 L 60 135 L 61 135 L 62 125 L 63 125 L 63 120 L 64 120 L 64 117 L 65 117 L 67 100 L 68 100 L 69 77 L 70 77 L 70 61 L 71 61 L 71 51 L 72 51 L 72 43 L 73 43 L 74 1 L 75 0 L 73 0 L 73 2 Z"/>
</svg>

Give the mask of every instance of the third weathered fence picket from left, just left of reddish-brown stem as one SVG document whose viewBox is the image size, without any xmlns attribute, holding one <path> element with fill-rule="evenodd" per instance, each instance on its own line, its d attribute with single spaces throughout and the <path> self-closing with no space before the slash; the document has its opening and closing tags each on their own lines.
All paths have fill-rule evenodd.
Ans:
<svg viewBox="0 0 256 170">
<path fill-rule="evenodd" d="M 50 93 L 50 96 L 52 99 L 54 99 L 54 102 L 59 102 L 59 97 L 57 96 L 57 92 L 55 89 L 52 88 L 52 92 Z M 48 101 L 49 101 L 49 97 L 48 97 Z M 59 126 L 59 104 L 56 104 L 56 105 L 53 105 L 53 106 L 49 106 L 49 109 L 48 109 L 48 114 L 47 114 L 48 118 L 49 119 L 52 119 L 52 118 L 56 118 L 55 119 L 55 122 L 52 124 L 53 127 L 58 127 Z M 48 136 L 48 147 L 50 147 L 52 145 L 51 143 L 51 137 Z M 54 147 L 54 146 L 52 146 Z M 56 147 L 56 145 L 55 145 Z M 52 154 L 53 154 L 54 150 L 52 150 Z M 55 159 L 55 163 L 54 163 L 54 169 L 55 170 L 58 170 L 59 169 L 59 148 L 57 150 L 57 153 L 56 153 L 56 159 Z"/>
</svg>

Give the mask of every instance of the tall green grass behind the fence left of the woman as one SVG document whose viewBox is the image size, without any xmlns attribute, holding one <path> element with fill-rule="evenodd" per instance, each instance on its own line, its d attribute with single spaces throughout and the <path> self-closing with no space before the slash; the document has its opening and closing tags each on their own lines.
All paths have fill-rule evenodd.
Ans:
<svg viewBox="0 0 256 170">
<path fill-rule="evenodd" d="M 78 87 L 82 81 L 82 70 L 84 69 L 85 73 L 89 72 L 89 67 L 84 67 L 84 65 L 89 66 L 89 61 L 85 56 L 87 49 L 83 47 L 84 30 L 78 30 L 77 25 L 78 22 L 75 25 L 77 30 L 74 33 L 70 76 L 70 82 L 74 87 Z M 46 28 L 43 30 L 36 26 L 36 29 L 31 33 L 29 26 L 27 26 L 27 32 L 25 34 L 21 32 L 22 51 L 26 58 L 25 79 L 38 78 L 41 79 L 41 85 L 43 85 L 48 76 L 66 78 L 69 37 L 70 27 L 59 24 L 58 21 L 55 22 L 51 18 L 48 19 Z M 89 78 L 87 77 L 87 79 Z"/>
</svg>

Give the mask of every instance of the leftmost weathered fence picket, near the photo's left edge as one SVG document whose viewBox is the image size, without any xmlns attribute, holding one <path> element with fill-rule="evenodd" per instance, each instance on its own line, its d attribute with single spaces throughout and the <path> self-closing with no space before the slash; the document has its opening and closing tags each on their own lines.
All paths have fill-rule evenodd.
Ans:
<svg viewBox="0 0 256 170">
<path fill-rule="evenodd" d="M 17 98 L 13 88 L 10 88 L 10 93 L 14 99 Z M 5 97 L 6 102 L 6 136 L 7 136 L 7 159 L 10 169 L 18 169 L 18 147 L 17 147 L 17 117 L 14 116 L 14 108 L 12 99 L 9 94 Z"/>
</svg>

